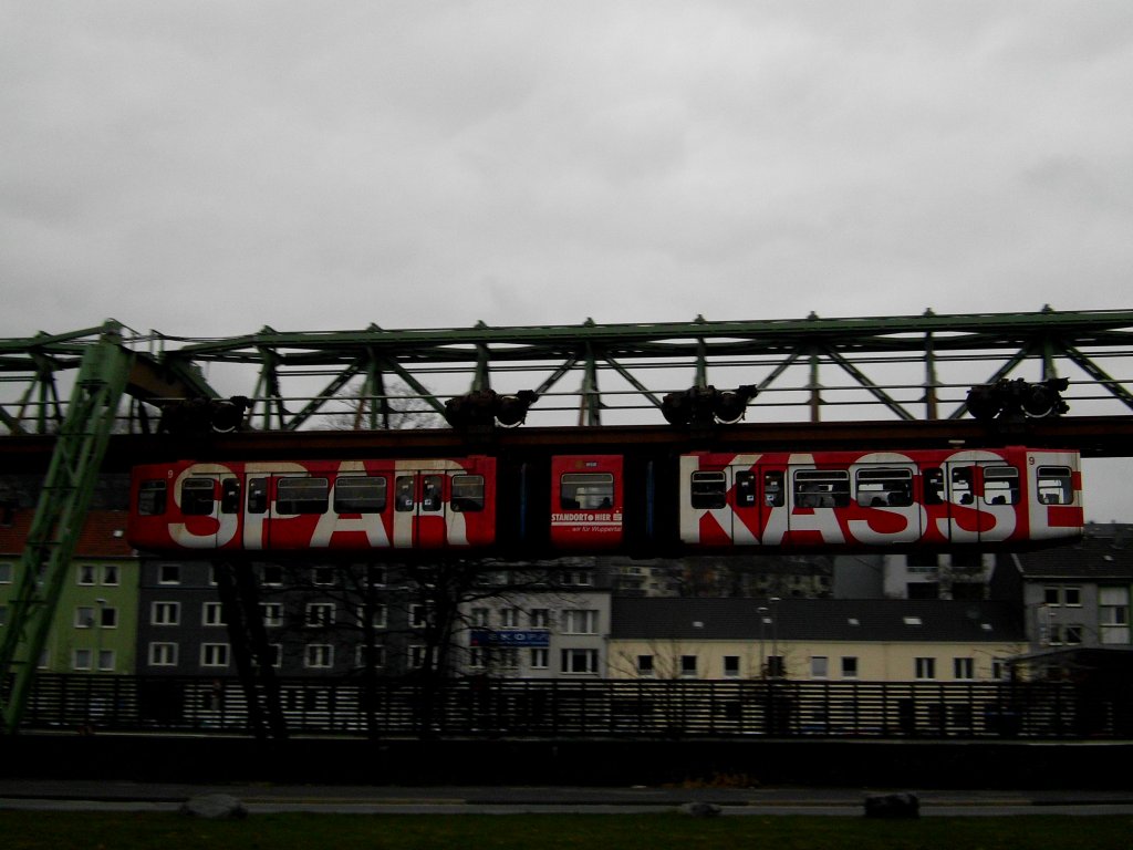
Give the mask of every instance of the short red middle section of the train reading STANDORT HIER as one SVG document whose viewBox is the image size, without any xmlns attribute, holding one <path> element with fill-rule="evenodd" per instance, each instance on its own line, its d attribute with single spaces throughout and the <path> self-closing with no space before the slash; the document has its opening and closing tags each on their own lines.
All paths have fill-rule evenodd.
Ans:
<svg viewBox="0 0 1133 850">
<path fill-rule="evenodd" d="M 556 550 L 621 544 L 623 512 L 620 454 L 559 454 L 551 459 L 551 544 Z"/>
</svg>

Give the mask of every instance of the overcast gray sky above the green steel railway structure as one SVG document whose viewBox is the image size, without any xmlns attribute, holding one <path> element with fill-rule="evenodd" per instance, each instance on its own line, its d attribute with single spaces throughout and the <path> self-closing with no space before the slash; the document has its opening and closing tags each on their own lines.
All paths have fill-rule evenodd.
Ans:
<svg viewBox="0 0 1133 850">
<path fill-rule="evenodd" d="M 1128 0 L 0 0 L 0 337 L 1128 307 Z"/>
</svg>

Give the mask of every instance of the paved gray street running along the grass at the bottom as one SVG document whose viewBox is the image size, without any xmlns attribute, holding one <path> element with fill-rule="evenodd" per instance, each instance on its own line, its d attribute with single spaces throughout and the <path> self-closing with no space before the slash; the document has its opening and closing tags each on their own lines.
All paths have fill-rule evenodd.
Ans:
<svg viewBox="0 0 1133 850">
<path fill-rule="evenodd" d="M 176 811 L 207 793 L 240 799 L 249 813 L 630 814 L 712 802 L 722 814 L 861 816 L 868 794 L 912 791 L 921 815 L 1133 814 L 1126 791 L 923 791 L 915 789 L 705 788 L 401 788 L 339 785 L 185 785 L 61 780 L 0 780 L 0 810 Z"/>
</svg>

